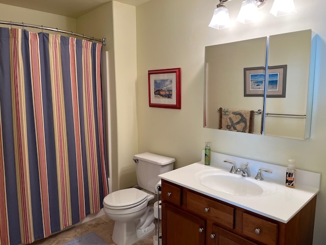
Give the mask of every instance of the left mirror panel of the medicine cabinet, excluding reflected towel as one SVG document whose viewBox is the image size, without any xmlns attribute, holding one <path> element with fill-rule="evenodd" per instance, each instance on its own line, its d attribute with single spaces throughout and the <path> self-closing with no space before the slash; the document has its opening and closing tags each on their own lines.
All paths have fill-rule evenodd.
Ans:
<svg viewBox="0 0 326 245">
<path fill-rule="evenodd" d="M 226 110 L 254 111 L 252 131 L 261 133 L 262 114 L 256 112 L 263 109 L 263 86 L 254 80 L 254 72 L 251 80 L 250 76 L 244 79 L 243 74 L 244 68 L 265 67 L 266 39 L 262 37 L 205 47 L 204 127 L 221 128 L 219 108 L 223 108 L 222 114 Z"/>
</svg>

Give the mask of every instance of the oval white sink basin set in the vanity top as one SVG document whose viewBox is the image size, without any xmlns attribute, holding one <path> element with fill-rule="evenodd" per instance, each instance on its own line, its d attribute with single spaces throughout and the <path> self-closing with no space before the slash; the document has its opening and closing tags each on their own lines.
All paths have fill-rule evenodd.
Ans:
<svg viewBox="0 0 326 245">
<path fill-rule="evenodd" d="M 231 174 L 224 169 L 199 171 L 195 179 L 210 189 L 241 197 L 265 196 L 273 194 L 277 190 L 272 183 L 257 181 L 252 177 Z"/>
</svg>

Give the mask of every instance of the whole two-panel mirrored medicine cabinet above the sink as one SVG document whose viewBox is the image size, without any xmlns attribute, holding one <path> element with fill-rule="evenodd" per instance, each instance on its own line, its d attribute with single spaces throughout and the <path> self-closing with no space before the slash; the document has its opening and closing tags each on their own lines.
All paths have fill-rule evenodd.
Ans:
<svg viewBox="0 0 326 245">
<path fill-rule="evenodd" d="M 253 111 L 252 133 L 308 138 L 314 79 L 313 36 L 311 30 L 306 30 L 206 46 L 204 127 L 223 128 L 221 115 L 225 110 Z M 223 108 L 222 113 L 219 108 Z"/>
</svg>

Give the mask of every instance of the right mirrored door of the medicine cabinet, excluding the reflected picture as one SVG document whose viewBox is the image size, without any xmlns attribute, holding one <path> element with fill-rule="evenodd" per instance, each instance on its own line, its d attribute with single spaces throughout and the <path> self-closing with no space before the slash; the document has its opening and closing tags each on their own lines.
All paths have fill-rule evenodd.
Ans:
<svg viewBox="0 0 326 245">
<path fill-rule="evenodd" d="M 295 139 L 310 137 L 315 62 L 315 35 L 311 30 L 269 37 L 268 66 L 287 65 L 282 97 L 268 97 L 265 135 Z M 281 85 L 279 80 L 279 86 Z M 276 114 L 276 115 L 273 115 Z"/>
</svg>

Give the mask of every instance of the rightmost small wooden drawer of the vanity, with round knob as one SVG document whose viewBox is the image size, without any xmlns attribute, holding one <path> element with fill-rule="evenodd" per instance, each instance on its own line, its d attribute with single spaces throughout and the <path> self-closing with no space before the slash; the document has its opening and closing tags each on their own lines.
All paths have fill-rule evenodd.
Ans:
<svg viewBox="0 0 326 245">
<path fill-rule="evenodd" d="M 277 244 L 278 225 L 243 213 L 242 233 L 267 245 Z"/>
</svg>

